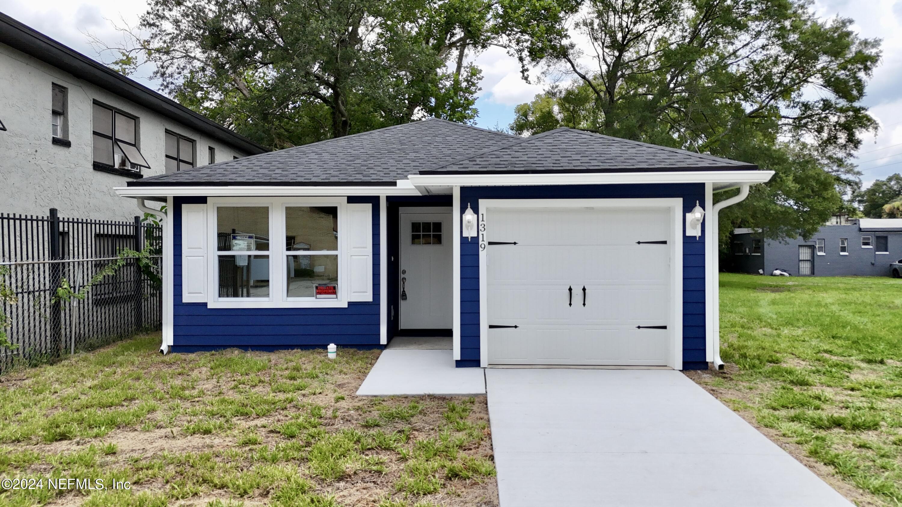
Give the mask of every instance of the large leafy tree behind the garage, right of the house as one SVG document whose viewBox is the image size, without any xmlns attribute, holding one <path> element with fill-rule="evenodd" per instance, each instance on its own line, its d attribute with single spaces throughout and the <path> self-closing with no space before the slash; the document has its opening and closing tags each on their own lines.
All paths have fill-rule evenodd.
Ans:
<svg viewBox="0 0 902 507">
<path fill-rule="evenodd" d="M 586 0 L 575 39 L 541 59 L 574 77 L 520 105 L 511 129 L 566 125 L 777 171 L 723 231 L 810 236 L 855 188 L 850 163 L 877 124 L 861 105 L 879 41 L 808 0 Z M 722 231 L 722 232 L 723 232 Z"/>
</svg>

